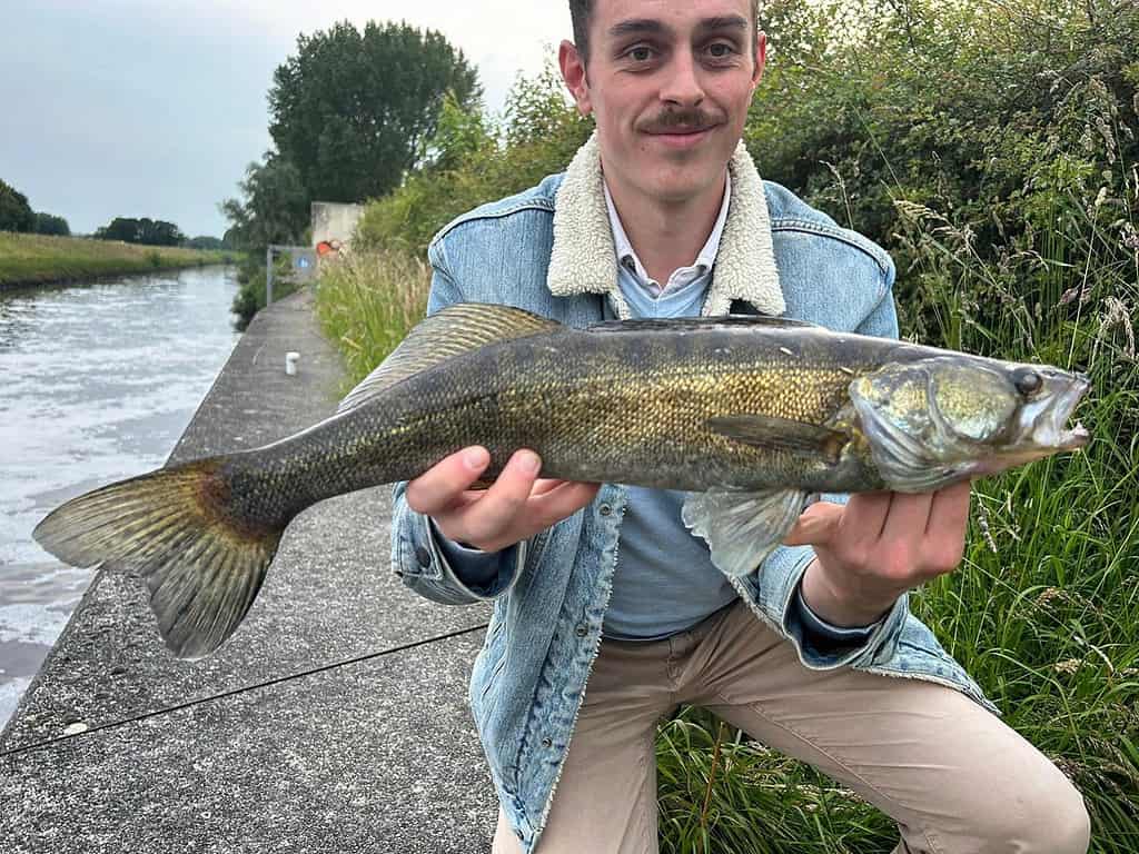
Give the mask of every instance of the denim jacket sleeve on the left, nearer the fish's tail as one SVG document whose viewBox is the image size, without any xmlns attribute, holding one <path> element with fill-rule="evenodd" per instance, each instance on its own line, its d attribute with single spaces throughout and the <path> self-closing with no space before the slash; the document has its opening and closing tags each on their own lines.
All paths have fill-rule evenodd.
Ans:
<svg viewBox="0 0 1139 854">
<path fill-rule="evenodd" d="M 439 243 L 427 253 L 432 264 L 427 314 L 464 302 L 459 285 L 446 269 Z M 465 549 L 446 540 L 432 520 L 408 507 L 408 484 L 392 490 L 392 569 L 403 584 L 442 605 L 473 605 L 502 596 L 518 578 L 526 559 L 522 542 L 494 553 Z"/>
</svg>

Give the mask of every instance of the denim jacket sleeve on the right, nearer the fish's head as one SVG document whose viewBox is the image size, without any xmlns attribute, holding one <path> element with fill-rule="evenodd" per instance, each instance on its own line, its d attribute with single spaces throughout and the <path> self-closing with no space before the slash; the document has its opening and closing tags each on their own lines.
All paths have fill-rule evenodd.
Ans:
<svg viewBox="0 0 1139 854">
<path fill-rule="evenodd" d="M 880 338 L 898 337 L 898 313 L 894 307 L 894 265 L 890 263 L 883 274 L 883 293 L 878 303 L 855 329 L 860 335 Z M 825 493 L 822 501 L 845 504 L 847 494 Z M 811 670 L 833 670 L 843 666 L 867 665 L 885 660 L 893 655 L 902 625 L 909 613 L 909 594 L 898 598 L 893 608 L 870 631 L 869 637 L 849 644 L 819 642 L 809 619 L 798 605 L 798 590 L 808 565 L 814 559 L 810 545 L 779 545 L 759 572 L 756 605 L 794 643 L 800 660 Z"/>
</svg>

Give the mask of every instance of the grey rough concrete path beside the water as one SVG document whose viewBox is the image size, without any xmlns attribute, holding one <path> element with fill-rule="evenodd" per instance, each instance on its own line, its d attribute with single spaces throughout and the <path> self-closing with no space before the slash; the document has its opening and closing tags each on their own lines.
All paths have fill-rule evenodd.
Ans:
<svg viewBox="0 0 1139 854">
<path fill-rule="evenodd" d="M 306 427 L 341 383 L 311 296 L 284 299 L 171 461 Z M 0 852 L 489 851 L 494 798 L 466 704 L 489 610 L 399 583 L 388 492 L 297 517 L 245 623 L 202 662 L 166 652 L 144 582 L 100 570 L 0 733 Z"/>
</svg>

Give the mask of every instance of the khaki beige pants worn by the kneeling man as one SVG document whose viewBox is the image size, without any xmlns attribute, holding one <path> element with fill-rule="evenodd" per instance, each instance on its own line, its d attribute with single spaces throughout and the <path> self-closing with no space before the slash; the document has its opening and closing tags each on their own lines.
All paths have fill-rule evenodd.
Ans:
<svg viewBox="0 0 1139 854">
<path fill-rule="evenodd" d="M 929 682 L 810 671 L 736 602 L 666 640 L 601 643 L 538 854 L 655 854 L 655 724 L 680 703 L 857 791 L 898 822 L 898 854 L 1088 848 L 1080 794 L 995 715 Z M 500 814 L 494 854 L 519 851 Z"/>
</svg>

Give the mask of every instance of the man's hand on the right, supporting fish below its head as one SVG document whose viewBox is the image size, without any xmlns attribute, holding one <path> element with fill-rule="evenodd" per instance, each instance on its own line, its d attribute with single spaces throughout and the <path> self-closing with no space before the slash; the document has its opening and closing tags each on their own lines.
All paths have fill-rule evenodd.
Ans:
<svg viewBox="0 0 1139 854">
<path fill-rule="evenodd" d="M 845 506 L 806 509 L 784 540 L 818 556 L 803 576 L 808 606 L 837 626 L 879 619 L 921 583 L 957 568 L 965 555 L 968 481 L 917 495 L 868 492 Z"/>
</svg>

